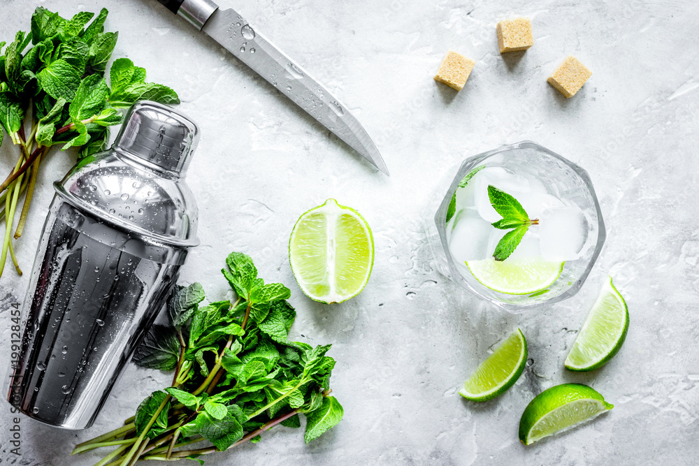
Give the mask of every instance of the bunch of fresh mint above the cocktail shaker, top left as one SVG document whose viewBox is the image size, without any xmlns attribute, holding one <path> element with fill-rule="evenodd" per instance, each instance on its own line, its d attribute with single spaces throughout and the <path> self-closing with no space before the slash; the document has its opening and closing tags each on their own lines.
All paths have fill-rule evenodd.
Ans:
<svg viewBox="0 0 699 466">
<path fill-rule="evenodd" d="M 6 224 L 0 275 L 8 251 L 22 273 L 10 231 L 17 203 L 26 192 L 14 238 L 22 235 L 38 168 L 50 147 L 78 147 L 79 158 L 91 156 L 106 149 L 108 126 L 122 122 L 117 109 L 141 99 L 180 102 L 169 87 L 145 82 L 145 69 L 129 59 L 114 62 L 107 85 L 106 66 L 118 36 L 104 31 L 107 13 L 102 9 L 90 23 L 94 13 L 80 12 L 66 20 L 39 7 L 31 15 L 29 33 L 17 32 L 6 48 L 0 42 L 0 126 L 20 149 L 13 170 L 0 184 L 0 218 Z"/>
</svg>

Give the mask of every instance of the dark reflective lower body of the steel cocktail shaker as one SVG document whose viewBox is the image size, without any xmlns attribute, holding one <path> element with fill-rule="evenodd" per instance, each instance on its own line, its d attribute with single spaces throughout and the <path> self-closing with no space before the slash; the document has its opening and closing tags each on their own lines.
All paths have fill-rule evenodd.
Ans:
<svg viewBox="0 0 699 466">
<path fill-rule="evenodd" d="M 25 299 L 10 402 L 50 425 L 92 425 L 186 255 L 55 196 Z"/>
</svg>

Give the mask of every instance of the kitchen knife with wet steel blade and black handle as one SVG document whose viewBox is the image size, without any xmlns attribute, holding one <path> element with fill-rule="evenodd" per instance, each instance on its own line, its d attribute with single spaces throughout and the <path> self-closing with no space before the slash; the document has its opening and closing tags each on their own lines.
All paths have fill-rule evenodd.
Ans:
<svg viewBox="0 0 699 466">
<path fill-rule="evenodd" d="M 158 1 L 206 32 L 349 147 L 389 174 L 376 145 L 347 107 L 267 41 L 240 13 L 232 8 L 221 10 L 210 0 Z"/>
</svg>

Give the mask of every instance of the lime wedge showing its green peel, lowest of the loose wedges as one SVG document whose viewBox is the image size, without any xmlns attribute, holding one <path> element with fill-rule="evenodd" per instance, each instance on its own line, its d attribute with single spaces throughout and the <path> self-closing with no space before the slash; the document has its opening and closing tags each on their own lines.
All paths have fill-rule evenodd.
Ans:
<svg viewBox="0 0 699 466">
<path fill-rule="evenodd" d="M 524 409 L 519 421 L 519 439 L 525 445 L 596 418 L 614 405 L 582 384 L 552 386 L 539 393 Z"/>
</svg>

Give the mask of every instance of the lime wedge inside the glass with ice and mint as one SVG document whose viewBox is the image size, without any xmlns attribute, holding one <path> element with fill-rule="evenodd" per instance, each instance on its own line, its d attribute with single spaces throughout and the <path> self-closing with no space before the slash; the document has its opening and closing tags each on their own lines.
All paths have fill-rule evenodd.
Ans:
<svg viewBox="0 0 699 466">
<path fill-rule="evenodd" d="M 520 257 L 496 261 L 467 261 L 475 279 L 493 291 L 510 295 L 536 293 L 551 286 L 563 272 L 564 262 L 549 262 L 542 257 Z"/>
</svg>

